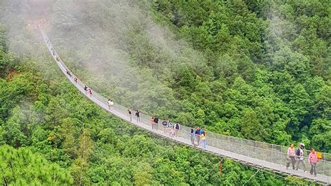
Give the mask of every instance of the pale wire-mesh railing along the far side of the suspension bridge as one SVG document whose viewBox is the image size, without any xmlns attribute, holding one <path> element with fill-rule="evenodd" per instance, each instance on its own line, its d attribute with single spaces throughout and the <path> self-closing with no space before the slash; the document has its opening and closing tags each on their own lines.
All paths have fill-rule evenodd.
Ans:
<svg viewBox="0 0 331 186">
<path fill-rule="evenodd" d="M 43 29 L 41 29 L 41 33 L 43 34 L 43 37 L 45 39 L 45 41 L 49 41 L 49 39 L 47 38 L 47 35 L 43 32 Z M 51 52 L 51 48 L 52 44 L 48 44 L 48 49 Z M 53 48 L 54 49 L 54 48 Z M 53 50 L 55 52 L 55 50 Z M 51 52 L 52 53 L 52 52 Z M 57 53 L 55 52 L 55 56 L 58 56 Z M 53 56 L 53 58 L 56 60 L 56 57 Z M 59 63 L 61 64 L 63 71 L 65 69 L 68 69 L 68 67 L 64 64 L 64 62 L 62 62 L 62 60 L 59 61 Z M 72 73 L 72 72 L 71 72 Z M 74 73 L 72 73 L 71 76 L 71 81 L 73 81 L 73 78 L 75 78 L 76 76 L 74 75 Z M 80 87 L 80 89 L 83 89 L 84 87 L 84 83 L 82 83 L 82 81 L 80 81 L 79 79 L 77 80 L 78 87 Z M 85 94 L 88 94 L 87 92 L 85 92 Z M 95 99 L 98 99 L 99 101 L 101 101 L 103 104 L 105 104 L 105 106 L 108 105 L 108 99 L 105 98 L 105 96 L 102 96 L 101 94 L 98 94 L 97 92 L 92 91 L 92 95 Z M 128 109 L 122 105 L 119 105 L 117 103 L 114 104 L 114 106 L 112 107 L 112 109 L 116 110 L 118 113 L 121 113 L 122 115 L 126 115 L 127 116 L 127 120 L 128 120 Z M 132 120 L 136 120 L 135 118 L 135 110 L 129 109 L 131 110 L 132 113 Z M 142 122 L 143 124 L 146 124 L 147 126 L 149 126 L 152 130 L 152 122 L 151 122 L 151 117 L 149 115 L 145 115 L 143 113 L 140 113 L 140 122 Z M 166 131 L 163 131 L 163 125 L 161 124 L 163 122 L 163 120 L 159 120 L 159 124 L 157 125 L 157 129 L 154 129 L 156 131 L 161 131 L 167 135 L 169 135 L 169 128 L 165 127 Z M 270 144 L 270 143 L 263 143 L 263 142 L 258 142 L 258 141 L 251 141 L 251 140 L 247 140 L 244 138 L 236 138 L 233 136 L 226 136 L 226 135 L 222 135 L 222 134 L 214 134 L 212 132 L 208 132 L 207 133 L 207 148 L 208 147 L 213 147 L 213 148 L 217 148 L 219 150 L 226 150 L 228 152 L 233 152 L 236 153 L 237 155 L 243 155 L 246 157 L 251 157 L 254 159 L 258 159 L 258 161 L 265 161 L 265 162 L 272 162 L 274 163 L 274 166 L 279 166 L 279 167 L 283 167 L 286 164 L 287 161 L 287 149 L 288 147 L 285 146 L 281 146 L 281 145 L 274 145 L 274 144 Z M 191 140 L 190 137 L 191 134 L 191 127 L 186 127 L 186 126 L 180 126 L 179 129 L 179 137 L 182 138 L 186 138 L 188 141 Z M 176 137 L 173 137 L 176 138 Z M 196 138 L 194 139 L 194 141 L 197 143 Z M 304 150 L 305 156 L 304 156 L 304 162 L 306 163 L 306 169 L 303 169 L 302 164 L 300 164 L 300 171 L 295 173 L 296 175 L 303 175 L 303 174 L 307 174 L 304 173 L 303 171 L 309 171 L 310 169 L 310 165 L 307 162 L 307 152 L 309 152 L 308 150 Z M 323 174 L 325 176 L 331 176 L 331 162 L 328 161 L 330 160 L 331 155 L 328 153 L 323 153 L 323 159 L 321 159 L 317 164 L 316 164 L 316 169 L 318 171 L 319 174 Z M 289 169 L 291 169 L 291 164 Z"/>
</svg>

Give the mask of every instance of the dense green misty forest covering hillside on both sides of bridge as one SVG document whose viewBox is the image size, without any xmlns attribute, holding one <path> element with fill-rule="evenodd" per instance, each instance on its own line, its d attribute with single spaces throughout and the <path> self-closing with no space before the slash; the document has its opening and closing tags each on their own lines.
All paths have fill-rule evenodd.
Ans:
<svg viewBox="0 0 331 186">
<path fill-rule="evenodd" d="M 66 65 L 117 103 L 331 153 L 330 1 L 38 1 L 0 2 L 1 185 L 309 184 L 106 113 L 61 74 L 35 20 Z"/>
</svg>

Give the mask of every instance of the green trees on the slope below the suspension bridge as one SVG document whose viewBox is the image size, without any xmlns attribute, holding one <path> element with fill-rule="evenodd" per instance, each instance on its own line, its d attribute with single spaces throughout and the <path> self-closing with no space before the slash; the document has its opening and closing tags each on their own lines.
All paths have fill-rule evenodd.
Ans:
<svg viewBox="0 0 331 186">
<path fill-rule="evenodd" d="M 3 91 L 34 87 L 29 94 L 7 91 L 14 100 L 0 127 L 1 181 L 7 184 L 238 185 L 254 173 L 226 159 L 220 176 L 219 157 L 137 129 L 89 102 L 65 78 L 45 83 L 31 71 L 1 79 Z M 276 179 L 260 173 L 251 181 L 263 184 L 270 178 Z"/>
</svg>

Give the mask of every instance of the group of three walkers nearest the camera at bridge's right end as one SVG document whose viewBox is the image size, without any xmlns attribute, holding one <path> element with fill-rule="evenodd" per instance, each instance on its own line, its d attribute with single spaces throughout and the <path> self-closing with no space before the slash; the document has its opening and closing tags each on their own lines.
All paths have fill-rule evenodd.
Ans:
<svg viewBox="0 0 331 186">
<path fill-rule="evenodd" d="M 309 173 L 314 176 L 316 173 L 316 163 L 320 160 L 320 157 L 317 155 L 318 152 L 314 148 L 311 149 L 311 152 L 308 155 L 308 163 L 311 166 Z M 304 143 L 299 144 L 299 148 L 295 150 L 294 144 L 290 143 L 290 147 L 287 150 L 286 158 L 286 169 L 292 164 L 292 169 L 298 171 L 300 164 L 303 166 L 303 171 L 306 172 L 306 162 L 304 162 Z"/>
</svg>

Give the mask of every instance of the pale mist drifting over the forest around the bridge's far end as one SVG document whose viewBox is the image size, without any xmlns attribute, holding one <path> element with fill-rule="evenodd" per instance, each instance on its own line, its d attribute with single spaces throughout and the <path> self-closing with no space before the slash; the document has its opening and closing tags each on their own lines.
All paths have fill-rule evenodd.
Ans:
<svg viewBox="0 0 331 186">
<path fill-rule="evenodd" d="M 198 68 L 206 62 L 153 21 L 152 1 L 4 0 L 0 5 L 12 52 L 36 59 L 48 77 L 56 72 L 49 68 L 50 56 L 35 27 L 42 21 L 73 73 L 89 87 L 133 108 L 173 106 L 173 90 L 161 82 L 167 82 L 179 64 Z M 170 101 L 164 102 L 165 97 Z"/>
</svg>

